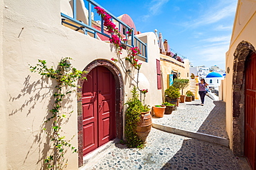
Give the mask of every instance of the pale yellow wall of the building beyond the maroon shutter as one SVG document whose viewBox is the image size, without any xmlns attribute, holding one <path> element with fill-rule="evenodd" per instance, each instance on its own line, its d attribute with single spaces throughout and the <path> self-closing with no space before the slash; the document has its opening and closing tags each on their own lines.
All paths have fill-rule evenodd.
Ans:
<svg viewBox="0 0 256 170">
<path fill-rule="evenodd" d="M 172 70 L 174 72 L 181 73 L 180 78 L 187 78 L 190 79 L 190 65 L 188 59 L 184 60 L 184 63 L 181 63 L 179 61 L 176 61 L 176 59 L 173 59 L 170 56 L 166 56 L 161 54 L 161 71 L 163 74 L 163 89 L 168 88 L 168 74 L 172 74 Z M 164 61 L 163 59 L 167 59 L 168 61 Z M 171 63 L 171 62 L 173 63 Z M 190 85 L 183 89 L 183 95 L 185 95 L 185 92 L 187 92 L 190 89 Z"/>
</svg>

